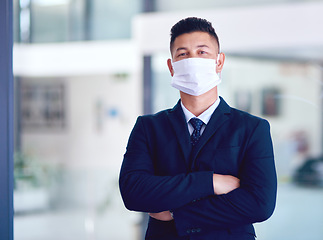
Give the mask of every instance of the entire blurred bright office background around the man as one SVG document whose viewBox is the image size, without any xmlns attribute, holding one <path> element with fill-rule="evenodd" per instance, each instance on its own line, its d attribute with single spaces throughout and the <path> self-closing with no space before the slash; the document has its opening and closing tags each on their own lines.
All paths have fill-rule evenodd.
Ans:
<svg viewBox="0 0 323 240">
<path fill-rule="evenodd" d="M 138 115 L 176 104 L 169 30 L 205 17 L 220 95 L 269 120 L 277 208 L 261 240 L 323 239 L 323 1 L 14 0 L 16 240 L 141 240 L 118 174 Z"/>
</svg>

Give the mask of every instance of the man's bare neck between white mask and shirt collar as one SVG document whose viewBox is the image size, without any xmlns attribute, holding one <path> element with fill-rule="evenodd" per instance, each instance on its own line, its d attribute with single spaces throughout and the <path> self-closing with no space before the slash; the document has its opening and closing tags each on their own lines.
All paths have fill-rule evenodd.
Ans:
<svg viewBox="0 0 323 240">
<path fill-rule="evenodd" d="M 218 99 L 218 90 L 214 87 L 200 96 L 192 96 L 184 92 L 180 92 L 180 95 L 187 110 L 198 117 Z"/>
</svg>

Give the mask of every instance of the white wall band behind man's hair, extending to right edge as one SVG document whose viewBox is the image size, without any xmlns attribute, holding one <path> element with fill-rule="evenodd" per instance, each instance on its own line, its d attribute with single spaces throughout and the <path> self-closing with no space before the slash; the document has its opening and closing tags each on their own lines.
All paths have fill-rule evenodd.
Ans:
<svg viewBox="0 0 323 240">
<path fill-rule="evenodd" d="M 180 19 L 196 16 L 213 23 L 226 53 L 322 61 L 322 12 L 322 2 L 291 2 L 148 13 L 135 18 L 133 36 L 144 54 L 167 51 L 171 27 Z"/>
</svg>

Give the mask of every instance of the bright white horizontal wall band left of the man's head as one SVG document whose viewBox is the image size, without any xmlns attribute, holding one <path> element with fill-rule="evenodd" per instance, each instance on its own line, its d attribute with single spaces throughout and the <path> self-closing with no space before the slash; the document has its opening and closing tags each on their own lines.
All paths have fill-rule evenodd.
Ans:
<svg viewBox="0 0 323 240">
<path fill-rule="evenodd" d="M 15 44 L 13 72 L 27 77 L 67 77 L 140 72 L 132 40 Z"/>
</svg>

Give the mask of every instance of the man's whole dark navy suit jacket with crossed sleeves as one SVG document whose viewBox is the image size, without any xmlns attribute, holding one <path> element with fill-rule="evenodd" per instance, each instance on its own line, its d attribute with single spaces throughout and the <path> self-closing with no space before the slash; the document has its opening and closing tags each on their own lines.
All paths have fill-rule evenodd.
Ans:
<svg viewBox="0 0 323 240">
<path fill-rule="evenodd" d="M 213 173 L 238 177 L 240 187 L 215 195 Z M 268 219 L 276 201 L 269 124 L 221 98 L 192 149 L 180 102 L 141 116 L 119 184 L 129 210 L 174 213 L 170 222 L 150 219 L 146 239 L 254 239 L 252 223 Z"/>
</svg>

